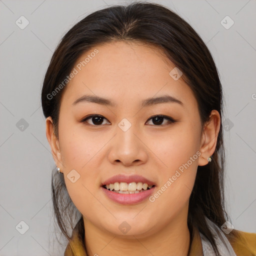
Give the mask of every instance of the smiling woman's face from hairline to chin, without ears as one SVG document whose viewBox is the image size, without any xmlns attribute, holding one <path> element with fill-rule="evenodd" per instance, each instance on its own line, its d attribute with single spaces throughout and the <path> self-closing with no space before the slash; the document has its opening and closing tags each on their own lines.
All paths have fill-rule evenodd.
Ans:
<svg viewBox="0 0 256 256">
<path fill-rule="evenodd" d="M 200 158 L 197 102 L 182 76 L 169 74 L 175 66 L 159 49 L 135 42 L 95 48 L 77 60 L 61 98 L 58 166 L 84 221 L 113 234 L 129 226 L 129 235 L 146 236 L 187 218 Z M 84 95 L 108 101 L 78 100 Z M 105 182 L 117 174 L 123 177 Z M 137 176 L 125 179 L 131 175 Z M 153 186 L 131 194 L 102 187 L 119 180 L 127 181 L 121 189 L 132 182 L 136 189 L 145 179 Z"/>
</svg>

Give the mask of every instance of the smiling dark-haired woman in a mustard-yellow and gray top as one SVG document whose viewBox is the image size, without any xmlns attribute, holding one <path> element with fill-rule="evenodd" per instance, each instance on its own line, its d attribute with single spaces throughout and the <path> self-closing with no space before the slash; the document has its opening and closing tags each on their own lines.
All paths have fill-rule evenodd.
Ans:
<svg viewBox="0 0 256 256">
<path fill-rule="evenodd" d="M 177 14 L 143 2 L 89 14 L 53 53 L 41 101 L 64 255 L 256 253 L 224 208 L 218 72 Z"/>
</svg>

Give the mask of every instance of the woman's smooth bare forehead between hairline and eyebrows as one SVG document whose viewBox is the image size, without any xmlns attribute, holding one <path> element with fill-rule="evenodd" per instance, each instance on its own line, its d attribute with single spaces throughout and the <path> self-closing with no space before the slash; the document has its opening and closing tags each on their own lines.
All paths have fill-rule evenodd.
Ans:
<svg viewBox="0 0 256 256">
<path fill-rule="evenodd" d="M 194 101 L 182 76 L 174 80 L 169 74 L 174 67 L 163 51 L 153 45 L 140 42 L 95 45 L 77 59 L 73 67 L 77 73 L 66 85 L 63 100 L 70 104 L 82 94 L 91 94 L 112 98 L 114 102 L 123 102 L 124 98 L 135 102 L 168 93 L 181 101 Z"/>
</svg>

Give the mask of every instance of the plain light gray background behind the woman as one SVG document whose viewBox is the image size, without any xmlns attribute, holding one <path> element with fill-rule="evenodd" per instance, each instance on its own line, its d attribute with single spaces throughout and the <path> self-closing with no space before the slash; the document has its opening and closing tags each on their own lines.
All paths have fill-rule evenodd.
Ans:
<svg viewBox="0 0 256 256">
<path fill-rule="evenodd" d="M 227 210 L 235 229 L 256 232 L 256 1 L 155 2 L 188 21 L 214 57 L 225 98 L 223 121 L 229 125 L 224 131 Z M 114 3 L 123 1 L 0 0 L 0 255 L 63 253 L 54 240 L 50 178 L 55 164 L 40 89 L 61 36 L 88 13 Z M 15 23 L 21 15 L 29 21 L 24 29 Z M 220 23 L 226 15 L 234 21 L 229 29 Z M 20 126 L 22 118 L 27 127 Z M 24 234 L 15 228 L 21 220 L 29 226 Z"/>
</svg>

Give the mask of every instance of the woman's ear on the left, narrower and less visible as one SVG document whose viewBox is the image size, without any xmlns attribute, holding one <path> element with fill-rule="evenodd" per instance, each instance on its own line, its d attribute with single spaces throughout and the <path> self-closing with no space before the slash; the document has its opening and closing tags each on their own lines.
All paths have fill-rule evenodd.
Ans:
<svg viewBox="0 0 256 256">
<path fill-rule="evenodd" d="M 46 118 L 46 137 L 49 142 L 51 153 L 54 158 L 55 164 L 62 169 L 62 160 L 61 160 L 61 153 L 59 148 L 59 141 L 54 133 L 53 130 L 53 122 L 52 118 L 48 116 Z"/>
</svg>

